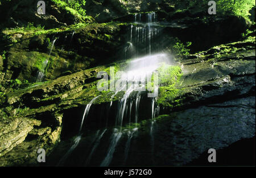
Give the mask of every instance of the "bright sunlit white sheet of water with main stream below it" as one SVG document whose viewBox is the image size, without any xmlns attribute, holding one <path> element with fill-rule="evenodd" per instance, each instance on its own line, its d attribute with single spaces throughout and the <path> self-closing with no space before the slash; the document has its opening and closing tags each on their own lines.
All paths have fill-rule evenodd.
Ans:
<svg viewBox="0 0 256 178">
<path fill-rule="evenodd" d="M 166 54 L 160 53 L 160 54 L 147 55 L 144 57 L 134 59 L 131 61 L 130 64 L 127 65 L 126 74 L 121 76 L 120 79 L 121 80 L 123 79 L 123 81 L 127 81 L 130 85 L 127 85 L 128 89 L 126 90 L 126 93 L 118 102 L 118 110 L 117 110 L 117 115 L 115 117 L 115 127 L 118 127 L 118 129 L 119 128 L 120 129 L 119 130 L 114 129 L 108 152 L 106 154 L 105 159 L 101 163 L 101 166 L 107 166 L 112 161 L 115 147 L 117 146 L 117 143 L 122 136 L 123 119 L 128 109 L 131 115 L 131 105 L 132 105 L 131 102 L 130 102 L 130 108 L 128 107 L 129 105 L 128 99 L 131 96 L 131 93 L 138 91 L 135 99 L 135 123 L 138 123 L 139 103 L 141 100 L 141 91 L 139 89 L 142 89 L 145 87 L 147 74 L 151 74 L 160 66 L 160 63 L 164 61 L 168 62 L 168 60 L 169 60 L 169 57 Z M 139 84 L 139 82 L 141 83 Z M 158 87 L 156 89 L 158 89 Z M 118 89 L 117 91 L 115 91 L 115 93 L 112 95 L 112 99 L 121 90 L 122 89 Z M 110 105 L 112 105 L 112 102 L 110 103 Z M 130 118 L 130 115 L 129 115 L 129 118 Z M 127 143 L 126 149 L 129 148 L 129 144 L 130 144 L 129 142 Z"/>
</svg>

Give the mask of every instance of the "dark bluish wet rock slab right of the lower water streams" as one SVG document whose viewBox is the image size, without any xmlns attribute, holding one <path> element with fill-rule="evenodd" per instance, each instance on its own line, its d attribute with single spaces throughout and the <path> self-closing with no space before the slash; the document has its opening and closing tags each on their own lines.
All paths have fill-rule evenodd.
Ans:
<svg viewBox="0 0 256 178">
<path fill-rule="evenodd" d="M 175 119 L 156 122 L 156 164 L 184 165 L 210 148 L 253 137 L 254 109 L 255 97 L 245 97 L 170 114 Z"/>
</svg>

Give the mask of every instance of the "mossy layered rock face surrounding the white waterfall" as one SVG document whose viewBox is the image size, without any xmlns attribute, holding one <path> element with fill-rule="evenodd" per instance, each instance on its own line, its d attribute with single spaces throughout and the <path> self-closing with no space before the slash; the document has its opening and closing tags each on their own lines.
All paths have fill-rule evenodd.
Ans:
<svg viewBox="0 0 256 178">
<path fill-rule="evenodd" d="M 20 2 L 15 9 L 21 11 L 28 3 L 36 1 Z M 13 18 L 7 27 L 34 22 L 46 28 L 5 28 L 0 35 L 1 166 L 40 166 L 39 148 L 46 150 L 46 165 L 59 165 L 63 158 L 61 165 L 102 165 L 112 138 L 116 145 L 109 165 L 185 165 L 209 148 L 218 150 L 255 135 L 255 28 L 245 19 L 180 13 L 166 1 L 87 1 L 87 13 L 93 16 L 87 21 L 53 2 L 47 8 L 46 16 L 30 8 L 26 18 L 14 9 L 6 14 Z M 141 22 L 135 23 L 131 13 L 152 10 L 158 22 L 150 28 L 160 31 L 152 46 L 159 44 L 160 52 L 171 53 L 176 68 L 167 81 L 160 78 L 164 82 L 155 105 L 146 93 L 140 100 L 137 93 L 130 95 L 124 108 L 130 108 L 130 115 L 138 111 L 138 122 L 133 125 L 126 114 L 118 137 L 112 131 L 126 92 L 100 92 L 97 73 L 126 69 L 127 47 L 134 39 L 142 40 L 134 35 L 141 35 Z M 248 28 L 254 32 L 242 36 Z M 192 42 L 191 52 L 175 56 L 176 38 Z M 35 82 L 39 72 L 43 81 Z M 15 79 L 30 84 L 14 85 Z M 85 108 L 97 96 L 81 134 Z M 77 145 L 74 140 L 79 140 Z"/>
</svg>

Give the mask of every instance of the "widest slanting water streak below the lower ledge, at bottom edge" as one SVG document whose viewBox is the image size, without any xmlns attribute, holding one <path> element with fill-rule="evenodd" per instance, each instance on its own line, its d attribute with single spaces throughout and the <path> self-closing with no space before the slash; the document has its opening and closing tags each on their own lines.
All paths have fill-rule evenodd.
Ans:
<svg viewBox="0 0 256 178">
<path fill-rule="evenodd" d="M 121 138 L 121 136 L 122 136 L 122 133 L 118 132 L 117 129 L 114 129 L 114 133 L 112 134 L 112 139 L 108 149 L 108 154 L 106 155 L 105 159 L 102 161 L 101 166 L 108 166 L 110 164 L 114 155 L 115 147 L 117 146 L 117 142 Z"/>
</svg>

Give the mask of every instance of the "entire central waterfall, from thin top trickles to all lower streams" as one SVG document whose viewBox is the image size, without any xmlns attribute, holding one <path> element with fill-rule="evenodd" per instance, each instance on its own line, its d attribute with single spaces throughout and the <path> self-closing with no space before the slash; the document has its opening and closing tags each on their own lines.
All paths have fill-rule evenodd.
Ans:
<svg viewBox="0 0 256 178">
<path fill-rule="evenodd" d="M 129 33 L 130 38 L 129 42 L 127 42 L 129 45 L 125 48 L 125 55 L 129 52 L 133 52 L 136 54 L 136 56 L 143 56 L 136 57 L 135 59 L 131 60 L 125 69 L 125 74 L 122 74 L 119 77 L 119 80 L 125 81 L 125 84 L 127 85 L 120 88 L 115 88 L 114 93 L 111 93 L 111 102 L 107 108 L 107 112 L 109 113 L 111 110 L 115 111 L 117 109 L 115 115 L 115 128 L 113 129 L 113 133 L 110 136 L 110 144 L 106 152 L 106 156 L 100 164 L 101 166 L 108 166 L 112 162 L 115 148 L 117 147 L 119 140 L 121 140 L 122 135 L 125 133 L 127 133 L 127 140 L 125 144 L 125 159 L 123 160 L 123 164 L 126 164 L 131 145 L 131 139 L 133 138 L 134 133 L 138 130 L 136 127 L 131 129 L 131 123 L 139 122 L 139 105 L 142 100 L 142 94 L 145 93 L 143 91 L 146 91 L 146 78 L 147 76 L 151 76 L 151 74 L 154 73 L 156 69 L 162 65 L 162 63 L 168 64 L 170 62 L 170 56 L 168 56 L 166 53 L 159 53 L 159 45 L 156 43 L 156 38 L 159 36 L 159 28 L 155 23 L 156 14 L 135 14 L 134 19 L 136 24 L 131 25 L 131 31 Z M 136 52 L 134 52 L 134 50 L 136 50 Z M 113 106 L 114 97 L 119 92 L 123 91 L 125 87 L 125 94 L 123 94 L 123 97 L 121 100 L 119 100 L 117 106 Z M 158 90 L 158 85 L 154 87 L 155 92 Z M 79 129 L 79 134 L 81 134 L 84 119 L 88 117 L 90 106 L 92 106 L 93 102 L 98 97 L 100 96 L 93 98 L 93 100 L 90 101 L 88 105 L 86 105 Z M 150 126 L 150 137 L 152 154 L 154 152 L 154 118 L 159 114 L 159 106 L 155 105 L 155 100 L 156 98 L 153 97 L 151 105 L 152 122 Z M 126 123 L 129 123 L 128 131 L 122 131 L 123 123 L 125 123 L 124 119 L 127 119 Z M 106 126 L 108 126 L 108 119 L 106 119 L 106 122 Z M 93 141 L 92 150 L 84 162 L 86 165 L 92 162 L 92 156 L 94 155 L 94 152 L 96 152 L 97 147 L 100 145 L 101 139 L 105 132 L 106 129 L 102 131 L 100 135 L 97 135 L 97 139 Z M 72 152 L 79 144 L 79 141 L 80 140 L 75 142 L 75 144 L 71 147 L 71 151 L 68 152 Z"/>
</svg>

